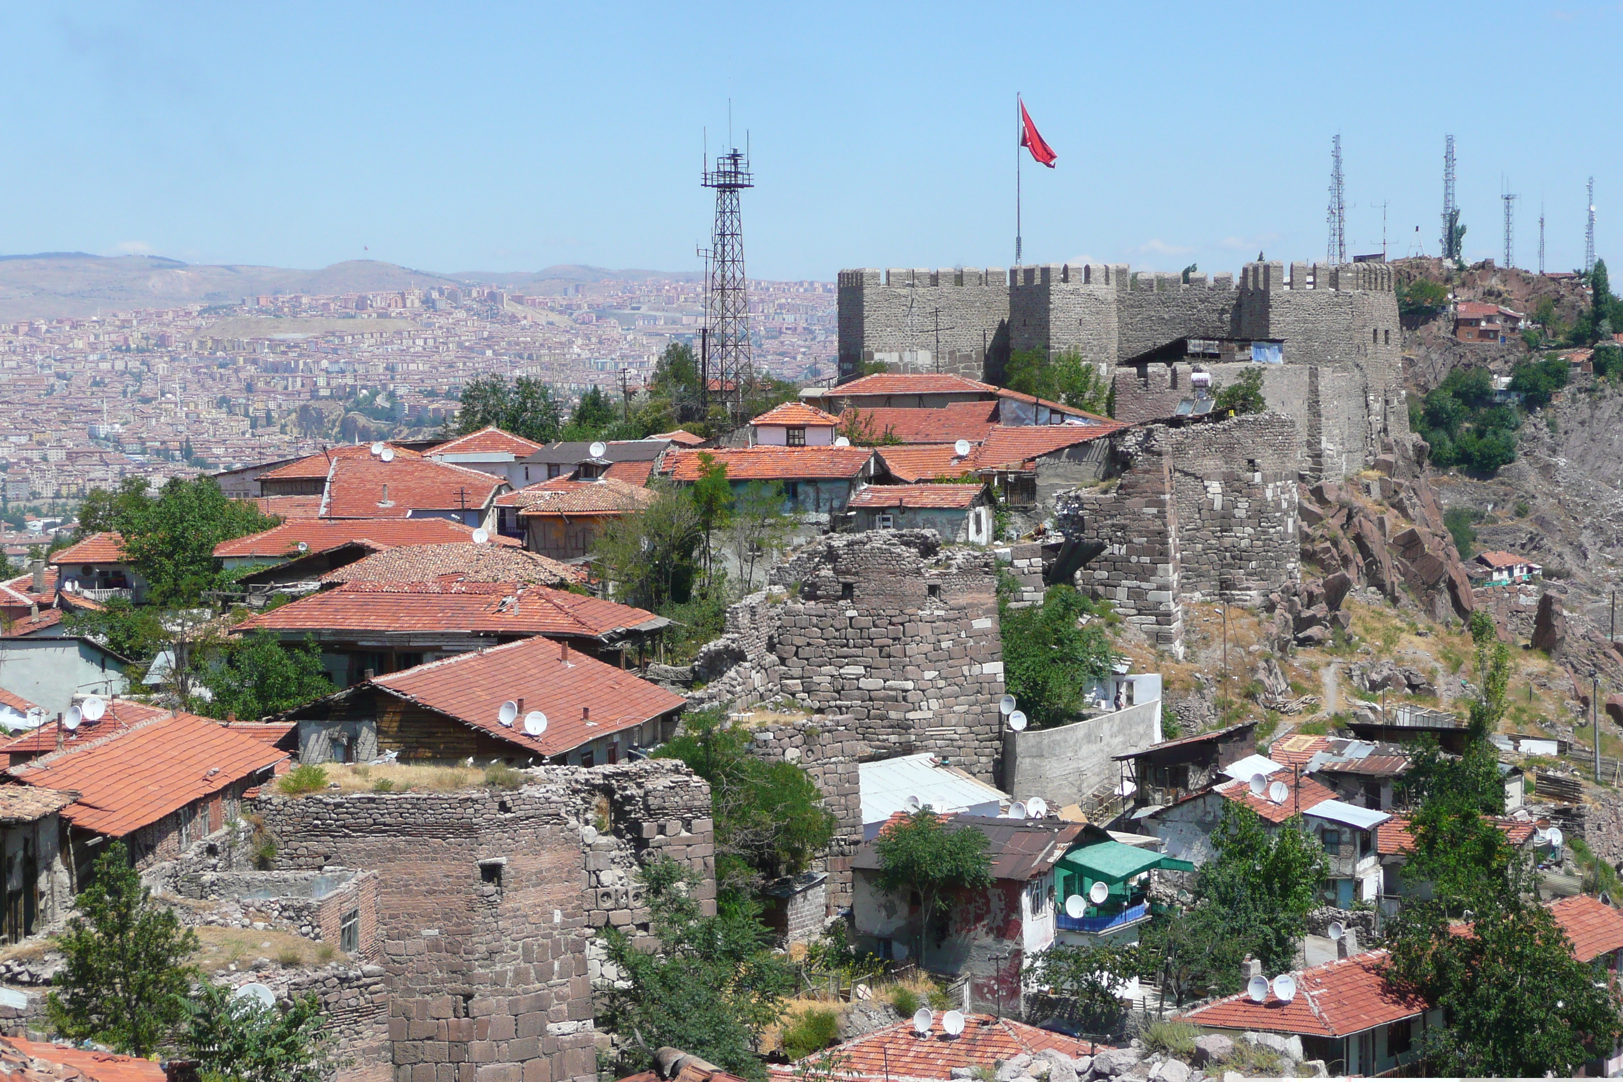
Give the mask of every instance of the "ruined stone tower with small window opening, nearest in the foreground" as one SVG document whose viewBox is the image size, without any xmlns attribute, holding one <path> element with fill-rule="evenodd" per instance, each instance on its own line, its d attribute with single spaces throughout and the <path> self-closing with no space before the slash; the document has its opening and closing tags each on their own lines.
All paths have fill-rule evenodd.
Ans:
<svg viewBox="0 0 1623 1082">
<path fill-rule="evenodd" d="M 278 869 L 377 873 L 386 1041 L 359 1077 L 592 1082 L 592 934 L 646 928 L 664 855 L 714 912 L 709 787 L 670 761 L 540 767 L 516 790 L 263 798 Z"/>
</svg>

